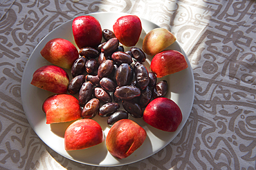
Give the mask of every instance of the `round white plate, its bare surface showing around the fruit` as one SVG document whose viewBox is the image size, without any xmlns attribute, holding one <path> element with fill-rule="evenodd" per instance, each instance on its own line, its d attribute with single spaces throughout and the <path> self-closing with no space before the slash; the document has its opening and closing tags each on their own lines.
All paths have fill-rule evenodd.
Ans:
<svg viewBox="0 0 256 170">
<path fill-rule="evenodd" d="M 95 17 L 96 19 L 98 19 L 98 21 L 100 21 L 102 30 L 104 28 L 113 30 L 112 26 L 114 21 L 116 21 L 118 17 L 126 14 L 117 12 L 98 12 L 89 15 Z M 159 27 L 158 25 L 145 19 L 141 19 L 141 22 L 143 25 L 143 31 L 136 45 L 136 47 L 140 48 L 142 48 L 143 38 L 145 37 L 147 32 Z M 169 86 L 168 92 L 165 97 L 174 100 L 174 102 L 181 108 L 183 114 L 183 120 L 175 132 L 165 132 L 155 129 L 150 125 L 147 125 L 147 123 L 145 123 L 142 118 L 131 118 L 130 116 L 132 120 L 134 120 L 136 123 L 138 123 L 138 125 L 140 125 L 147 131 L 147 138 L 145 139 L 145 142 L 140 148 L 134 151 L 131 156 L 122 160 L 111 156 L 111 154 L 107 151 L 105 142 L 102 142 L 100 145 L 96 145 L 88 149 L 82 149 L 77 151 L 66 151 L 64 149 L 64 131 L 66 130 L 66 127 L 68 127 L 68 125 L 70 125 L 71 123 L 57 123 L 47 125 L 46 116 L 42 111 L 42 104 L 44 103 L 44 100 L 46 100 L 48 96 L 53 95 L 53 93 L 30 85 L 30 82 L 32 80 L 32 76 L 35 70 L 37 70 L 39 67 L 42 67 L 43 65 L 51 65 L 51 63 L 48 63 L 48 61 L 46 61 L 46 59 L 44 59 L 40 55 L 40 51 L 48 41 L 54 38 L 63 38 L 75 44 L 71 25 L 72 20 L 67 21 L 66 23 L 55 28 L 55 30 L 50 32 L 44 37 L 44 39 L 42 39 L 42 41 L 40 41 L 37 47 L 35 47 L 33 53 L 30 55 L 30 58 L 26 63 L 24 74 L 22 76 L 22 105 L 24 107 L 26 117 L 28 118 L 28 122 L 30 123 L 31 127 L 33 127 L 37 136 L 39 136 L 39 138 L 41 138 L 42 141 L 44 141 L 46 145 L 48 145 L 48 147 L 66 158 L 69 158 L 76 162 L 81 162 L 83 164 L 90 164 L 102 167 L 131 164 L 133 162 L 137 162 L 139 160 L 143 160 L 149 156 L 152 156 L 154 153 L 157 153 L 158 151 L 163 149 L 177 136 L 177 134 L 179 134 L 179 132 L 185 125 L 188 117 L 190 116 L 190 111 L 192 109 L 192 104 L 194 100 L 194 76 L 192 73 L 192 67 L 190 65 L 190 62 L 188 61 L 188 56 L 186 56 L 185 52 L 182 50 L 178 42 L 173 43 L 167 49 L 178 50 L 179 52 L 182 52 L 185 56 L 186 61 L 188 62 L 188 68 L 181 72 L 177 72 L 163 78 L 158 78 L 158 81 L 167 81 Z M 125 47 L 125 51 L 127 50 L 129 50 L 129 47 Z M 147 56 L 147 60 L 144 63 L 148 70 L 151 59 L 152 57 Z M 71 78 L 70 70 L 66 70 L 66 72 L 68 72 Z M 101 125 L 102 130 L 104 131 L 104 136 L 106 137 L 110 129 L 109 125 L 107 125 L 107 118 L 95 116 L 95 118 L 93 119 Z"/>
</svg>

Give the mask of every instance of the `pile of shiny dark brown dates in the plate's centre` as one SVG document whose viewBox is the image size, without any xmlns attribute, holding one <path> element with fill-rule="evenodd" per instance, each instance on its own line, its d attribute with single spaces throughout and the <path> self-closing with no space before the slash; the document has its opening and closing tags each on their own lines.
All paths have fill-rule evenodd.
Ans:
<svg viewBox="0 0 256 170">
<path fill-rule="evenodd" d="M 141 118 L 152 98 L 165 96 L 167 81 L 157 83 L 156 75 L 147 71 L 143 50 L 131 47 L 125 52 L 111 30 L 102 30 L 102 36 L 105 42 L 98 47 L 80 49 L 68 92 L 78 94 L 82 118 L 109 116 L 110 126 L 129 115 Z"/>
</svg>

